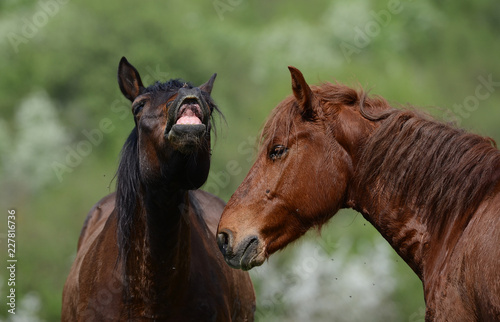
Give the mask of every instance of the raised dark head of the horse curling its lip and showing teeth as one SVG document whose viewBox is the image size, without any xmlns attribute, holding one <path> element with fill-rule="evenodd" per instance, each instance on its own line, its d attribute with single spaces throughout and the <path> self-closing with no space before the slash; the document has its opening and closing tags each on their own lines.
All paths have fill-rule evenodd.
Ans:
<svg viewBox="0 0 500 322">
<path fill-rule="evenodd" d="M 139 72 L 123 57 L 118 84 L 132 102 L 140 177 L 144 182 L 196 189 L 210 167 L 212 112 L 216 74 L 195 87 L 180 80 L 144 87 Z M 129 140 L 130 141 L 130 140 Z"/>
</svg>

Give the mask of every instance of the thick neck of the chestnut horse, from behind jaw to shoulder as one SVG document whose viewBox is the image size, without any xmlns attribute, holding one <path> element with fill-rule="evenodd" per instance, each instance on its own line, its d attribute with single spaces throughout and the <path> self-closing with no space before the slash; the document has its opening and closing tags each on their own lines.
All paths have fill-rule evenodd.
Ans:
<svg viewBox="0 0 500 322">
<path fill-rule="evenodd" d="M 465 137 L 458 130 L 417 117 L 414 128 L 411 124 L 408 128 L 421 131 L 396 136 L 394 127 L 406 115 L 394 114 L 390 120 L 393 123 L 356 142 L 346 206 L 361 212 L 422 278 L 425 270 L 445 265 L 477 207 L 497 182 L 495 178 L 500 177 L 500 171 L 491 172 L 500 163 L 500 154 L 478 137 Z M 424 134 L 419 141 L 418 136 Z M 452 144 L 458 140 L 467 141 Z M 440 150 L 430 152 L 435 146 Z M 484 156 L 481 164 L 473 162 L 471 151 Z M 472 161 L 457 164 L 456 160 L 466 153 Z M 449 160 L 442 155 L 448 155 Z M 474 177 L 459 175 L 466 172 Z M 470 183 L 465 186 L 468 180 Z M 470 195 L 466 195 L 467 191 Z M 467 198 L 472 201 L 465 207 Z"/>
</svg>

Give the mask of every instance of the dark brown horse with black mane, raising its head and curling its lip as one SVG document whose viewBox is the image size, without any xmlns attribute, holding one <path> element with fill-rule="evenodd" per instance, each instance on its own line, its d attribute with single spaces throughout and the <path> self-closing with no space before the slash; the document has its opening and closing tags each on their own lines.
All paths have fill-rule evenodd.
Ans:
<svg viewBox="0 0 500 322">
<path fill-rule="evenodd" d="M 89 212 L 63 292 L 63 321 L 251 321 L 247 273 L 226 265 L 215 233 L 224 208 L 199 188 L 210 167 L 215 74 L 200 87 L 143 87 L 122 58 L 135 128 L 117 190 Z"/>
</svg>

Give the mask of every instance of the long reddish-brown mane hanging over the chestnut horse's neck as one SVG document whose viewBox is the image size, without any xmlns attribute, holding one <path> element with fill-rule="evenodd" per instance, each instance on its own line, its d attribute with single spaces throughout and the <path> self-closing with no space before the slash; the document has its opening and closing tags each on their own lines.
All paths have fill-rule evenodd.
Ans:
<svg viewBox="0 0 500 322">
<path fill-rule="evenodd" d="M 389 200 L 392 209 L 411 205 L 431 234 L 441 233 L 445 223 L 466 225 L 500 179 L 494 140 L 413 108 L 390 108 L 377 115 L 362 103 L 362 115 L 380 125 L 361 147 L 358 191 L 371 189 L 372 196 Z"/>
</svg>

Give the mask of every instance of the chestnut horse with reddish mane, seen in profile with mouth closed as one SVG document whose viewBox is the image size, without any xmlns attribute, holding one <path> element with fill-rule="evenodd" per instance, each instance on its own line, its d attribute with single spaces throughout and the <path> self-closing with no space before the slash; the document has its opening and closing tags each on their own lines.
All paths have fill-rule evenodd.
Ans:
<svg viewBox="0 0 500 322">
<path fill-rule="evenodd" d="M 309 87 L 273 111 L 257 161 L 218 228 L 248 270 L 328 221 L 363 214 L 420 277 L 427 321 L 500 320 L 500 151 L 493 140 L 343 85 Z"/>
</svg>

